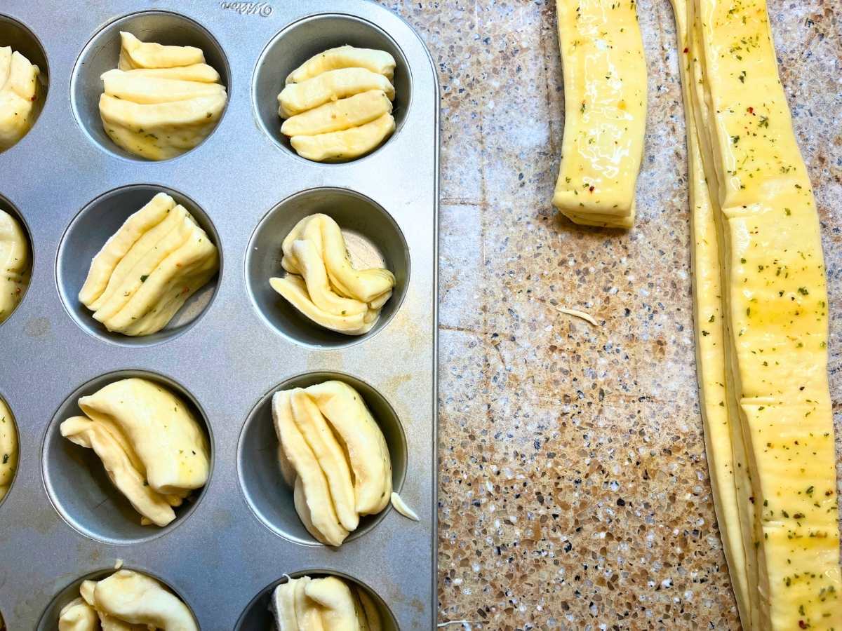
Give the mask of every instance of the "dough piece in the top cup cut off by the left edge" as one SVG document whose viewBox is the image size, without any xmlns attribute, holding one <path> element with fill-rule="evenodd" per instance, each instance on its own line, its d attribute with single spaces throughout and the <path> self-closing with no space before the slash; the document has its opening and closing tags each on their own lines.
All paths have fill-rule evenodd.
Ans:
<svg viewBox="0 0 842 631">
<path fill-rule="evenodd" d="M 10 46 L 0 46 L 0 151 L 35 125 L 40 110 L 40 70 Z"/>
</svg>

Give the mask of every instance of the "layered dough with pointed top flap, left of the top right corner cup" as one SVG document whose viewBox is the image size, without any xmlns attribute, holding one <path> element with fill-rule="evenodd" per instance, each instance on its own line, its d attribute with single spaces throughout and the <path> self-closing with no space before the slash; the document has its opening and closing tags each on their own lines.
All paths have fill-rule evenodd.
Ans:
<svg viewBox="0 0 842 631">
<path fill-rule="evenodd" d="M 149 160 L 193 149 L 225 109 L 219 73 L 193 46 L 141 42 L 120 32 L 120 62 L 102 76 L 99 114 L 112 141 Z"/>
</svg>

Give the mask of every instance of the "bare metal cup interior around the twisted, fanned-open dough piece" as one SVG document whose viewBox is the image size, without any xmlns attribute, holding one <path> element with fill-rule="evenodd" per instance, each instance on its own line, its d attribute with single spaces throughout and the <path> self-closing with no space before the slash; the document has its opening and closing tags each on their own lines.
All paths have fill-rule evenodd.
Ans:
<svg viewBox="0 0 842 631">
<path fill-rule="evenodd" d="M 380 320 L 361 336 L 330 331 L 301 312 L 269 285 L 269 278 L 284 276 L 281 244 L 299 220 L 323 213 L 335 220 L 354 250 L 367 252 L 395 274 L 392 297 L 383 305 Z M 246 285 L 258 313 L 269 326 L 294 342 L 317 348 L 348 347 L 373 336 L 400 308 L 409 281 L 409 247 L 401 229 L 381 205 L 344 188 L 314 188 L 292 195 L 264 216 L 252 234 L 246 252 Z"/>
</svg>

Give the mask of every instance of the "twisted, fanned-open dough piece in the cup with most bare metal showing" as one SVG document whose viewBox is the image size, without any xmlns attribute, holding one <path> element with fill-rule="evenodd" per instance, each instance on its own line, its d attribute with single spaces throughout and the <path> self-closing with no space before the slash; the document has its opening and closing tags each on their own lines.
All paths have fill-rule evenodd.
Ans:
<svg viewBox="0 0 842 631">
<path fill-rule="evenodd" d="M 283 278 L 269 284 L 310 320 L 331 331 L 362 335 L 376 325 L 395 276 L 387 269 L 355 269 L 337 223 L 328 215 L 299 221 L 282 245 Z"/>
</svg>

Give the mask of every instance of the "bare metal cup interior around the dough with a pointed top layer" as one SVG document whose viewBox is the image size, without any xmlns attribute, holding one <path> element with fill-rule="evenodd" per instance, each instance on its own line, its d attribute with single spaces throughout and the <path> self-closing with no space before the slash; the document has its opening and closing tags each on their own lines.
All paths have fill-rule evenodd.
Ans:
<svg viewBox="0 0 842 631">
<path fill-rule="evenodd" d="M 231 94 L 231 67 L 225 52 L 216 38 L 204 26 L 192 19 L 168 11 L 144 11 L 131 13 L 110 24 L 93 35 L 82 50 L 73 67 L 70 80 L 70 100 L 78 124 L 94 145 L 113 156 L 120 156 L 136 162 L 150 162 L 115 145 L 103 129 L 99 117 L 99 97 L 103 93 L 103 82 L 99 77 L 114 70 L 120 58 L 120 31 L 128 31 L 141 41 L 173 46 L 195 46 L 205 53 L 205 63 L 219 72 L 220 82 Z M 227 103 L 226 103 L 227 108 Z M 225 112 L 222 113 L 225 116 Z M 217 122 L 218 127 L 221 119 Z M 208 138 L 213 132 L 208 135 Z M 207 138 L 205 138 L 205 141 Z M 204 141 L 200 145 L 204 144 Z M 198 146 L 194 147 L 194 149 Z M 190 151 L 193 151 L 192 149 Z M 189 151 L 186 151 L 189 153 Z M 184 155 L 184 154 L 182 154 Z M 175 158 L 172 158 L 173 160 Z M 160 161 L 153 161 L 160 162 Z"/>
</svg>

